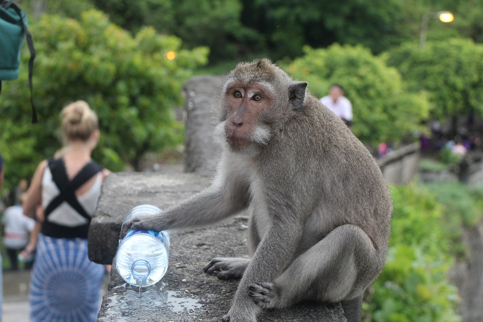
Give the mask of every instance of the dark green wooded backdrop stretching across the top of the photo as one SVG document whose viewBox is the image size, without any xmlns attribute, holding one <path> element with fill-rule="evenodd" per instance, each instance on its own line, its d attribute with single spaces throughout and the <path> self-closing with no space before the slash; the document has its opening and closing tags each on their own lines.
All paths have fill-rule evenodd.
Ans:
<svg viewBox="0 0 483 322">
<path fill-rule="evenodd" d="M 23 0 L 31 17 L 39 13 L 79 19 L 103 10 L 112 22 L 136 33 L 152 26 L 183 39 L 185 48 L 209 46 L 210 64 L 267 55 L 274 60 L 302 54 L 302 46 L 361 44 L 380 53 L 405 41 L 417 43 L 421 18 L 451 10 L 455 21 L 430 19 L 428 40 L 448 37 L 483 40 L 483 0 Z"/>
</svg>

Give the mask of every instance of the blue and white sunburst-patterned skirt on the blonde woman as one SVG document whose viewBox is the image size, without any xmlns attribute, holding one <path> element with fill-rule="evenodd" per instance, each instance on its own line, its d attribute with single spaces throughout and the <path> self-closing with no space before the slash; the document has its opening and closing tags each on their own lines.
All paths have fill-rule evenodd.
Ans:
<svg viewBox="0 0 483 322">
<path fill-rule="evenodd" d="M 88 258 L 87 239 L 39 234 L 30 278 L 31 321 L 97 320 L 104 266 Z"/>
</svg>

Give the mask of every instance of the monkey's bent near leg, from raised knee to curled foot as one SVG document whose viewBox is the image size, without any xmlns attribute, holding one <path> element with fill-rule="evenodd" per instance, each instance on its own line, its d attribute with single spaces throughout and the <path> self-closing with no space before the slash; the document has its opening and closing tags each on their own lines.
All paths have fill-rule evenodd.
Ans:
<svg viewBox="0 0 483 322">
<path fill-rule="evenodd" d="M 361 228 L 339 226 L 297 257 L 273 283 L 251 284 L 249 293 L 262 308 L 287 307 L 302 300 L 351 300 L 378 275 L 381 257 Z"/>
</svg>

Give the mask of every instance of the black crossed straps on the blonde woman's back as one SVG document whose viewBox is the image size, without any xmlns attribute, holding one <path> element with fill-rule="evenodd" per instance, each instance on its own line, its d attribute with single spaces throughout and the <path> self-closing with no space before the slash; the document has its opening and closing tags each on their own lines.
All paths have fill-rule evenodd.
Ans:
<svg viewBox="0 0 483 322">
<path fill-rule="evenodd" d="M 89 181 L 93 176 L 102 171 L 102 167 L 95 162 L 90 162 L 77 175 L 69 181 L 65 171 L 64 162 L 62 158 L 49 159 L 48 165 L 52 173 L 52 180 L 60 191 L 60 194 L 52 199 L 45 208 L 45 216 L 47 217 L 55 208 L 60 206 L 62 202 L 67 202 L 75 209 L 81 216 L 91 220 L 91 216 L 87 213 L 84 207 L 78 202 L 75 196 L 75 191 Z"/>
</svg>

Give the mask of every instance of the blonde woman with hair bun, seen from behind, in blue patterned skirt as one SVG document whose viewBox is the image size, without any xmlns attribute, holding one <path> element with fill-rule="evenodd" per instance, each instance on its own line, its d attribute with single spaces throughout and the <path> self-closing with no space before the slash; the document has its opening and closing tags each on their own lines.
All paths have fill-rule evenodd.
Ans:
<svg viewBox="0 0 483 322">
<path fill-rule="evenodd" d="M 99 139 L 96 113 L 84 101 L 62 109 L 64 146 L 42 161 L 32 178 L 24 213 L 43 215 L 30 279 L 31 321 L 96 321 L 104 274 L 91 262 L 87 233 L 109 171 L 91 159 Z M 42 212 L 40 212 L 42 213 Z"/>
</svg>

